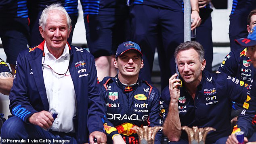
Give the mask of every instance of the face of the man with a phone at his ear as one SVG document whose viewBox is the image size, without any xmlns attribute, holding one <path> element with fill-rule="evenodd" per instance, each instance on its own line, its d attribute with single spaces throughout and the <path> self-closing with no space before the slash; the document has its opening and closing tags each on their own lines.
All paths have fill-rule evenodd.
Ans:
<svg viewBox="0 0 256 144">
<path fill-rule="evenodd" d="M 180 76 L 185 83 L 200 83 L 201 73 L 206 65 L 205 59 L 201 62 L 198 53 L 191 48 L 178 52 L 176 61 Z"/>
</svg>

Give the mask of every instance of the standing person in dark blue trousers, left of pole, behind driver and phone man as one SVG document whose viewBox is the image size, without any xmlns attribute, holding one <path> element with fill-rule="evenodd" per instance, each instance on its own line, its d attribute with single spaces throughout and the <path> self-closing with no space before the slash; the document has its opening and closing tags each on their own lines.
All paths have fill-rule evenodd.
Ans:
<svg viewBox="0 0 256 144">
<path fill-rule="evenodd" d="M 199 26 L 198 0 L 191 2 L 191 29 Z M 184 42 L 183 0 L 134 0 L 131 7 L 132 41 L 138 43 L 143 53 L 144 67 L 139 77 L 151 83 L 155 48 L 157 47 L 161 70 L 161 89 L 176 72 L 173 53 Z"/>
</svg>

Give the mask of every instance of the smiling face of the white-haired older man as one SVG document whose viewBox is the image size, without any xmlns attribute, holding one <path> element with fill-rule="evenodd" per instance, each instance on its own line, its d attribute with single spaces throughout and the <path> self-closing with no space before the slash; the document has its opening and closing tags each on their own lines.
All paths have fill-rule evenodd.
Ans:
<svg viewBox="0 0 256 144">
<path fill-rule="evenodd" d="M 69 30 L 64 13 L 52 10 L 48 12 L 45 28 L 43 29 L 42 26 L 39 26 L 39 30 L 51 53 L 52 51 L 63 51 L 71 28 Z"/>
</svg>

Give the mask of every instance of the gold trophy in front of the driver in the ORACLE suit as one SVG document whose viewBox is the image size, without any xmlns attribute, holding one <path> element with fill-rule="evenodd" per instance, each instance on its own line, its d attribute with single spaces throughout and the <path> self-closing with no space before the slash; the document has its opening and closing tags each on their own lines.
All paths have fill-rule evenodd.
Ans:
<svg viewBox="0 0 256 144">
<path fill-rule="evenodd" d="M 134 126 L 132 129 L 137 132 L 140 144 L 154 144 L 155 134 L 159 130 L 162 130 L 162 128 L 163 128 L 162 126 L 154 126 L 154 127 L 143 126 L 142 128 L 138 126 Z"/>
</svg>

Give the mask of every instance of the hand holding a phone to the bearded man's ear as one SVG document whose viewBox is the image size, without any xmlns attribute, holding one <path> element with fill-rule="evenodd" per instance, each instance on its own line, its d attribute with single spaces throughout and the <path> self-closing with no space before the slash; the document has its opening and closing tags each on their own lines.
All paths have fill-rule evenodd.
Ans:
<svg viewBox="0 0 256 144">
<path fill-rule="evenodd" d="M 177 73 L 172 75 L 169 79 L 169 91 L 170 91 L 170 97 L 171 101 L 178 102 L 178 98 L 180 97 L 180 79 L 177 79 L 178 76 Z"/>
</svg>

